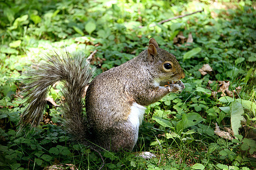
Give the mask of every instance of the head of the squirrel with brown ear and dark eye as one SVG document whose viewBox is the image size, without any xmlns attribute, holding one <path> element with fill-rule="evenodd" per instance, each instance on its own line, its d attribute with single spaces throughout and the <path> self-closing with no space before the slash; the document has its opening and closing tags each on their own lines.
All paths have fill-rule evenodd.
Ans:
<svg viewBox="0 0 256 170">
<path fill-rule="evenodd" d="M 154 81 L 157 85 L 164 86 L 185 77 L 183 69 L 173 54 L 159 48 L 158 43 L 153 38 L 148 44 L 147 62 L 153 68 L 150 71 L 155 77 Z"/>
</svg>

